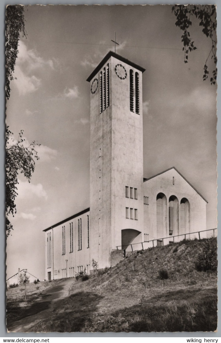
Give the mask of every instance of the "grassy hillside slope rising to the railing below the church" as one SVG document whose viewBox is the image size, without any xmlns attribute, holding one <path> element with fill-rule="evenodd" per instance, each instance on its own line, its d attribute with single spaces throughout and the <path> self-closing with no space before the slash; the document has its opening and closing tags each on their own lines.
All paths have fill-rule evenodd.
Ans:
<svg viewBox="0 0 221 343">
<path fill-rule="evenodd" d="M 134 252 L 102 275 L 73 283 L 50 320 L 33 331 L 215 331 L 216 272 L 195 261 L 214 238 Z M 166 269 L 167 280 L 159 279 Z"/>
</svg>

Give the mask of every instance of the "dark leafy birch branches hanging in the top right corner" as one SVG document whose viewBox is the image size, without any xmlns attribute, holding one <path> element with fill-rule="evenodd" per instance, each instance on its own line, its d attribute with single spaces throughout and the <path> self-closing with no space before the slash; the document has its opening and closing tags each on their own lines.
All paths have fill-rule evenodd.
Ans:
<svg viewBox="0 0 221 343">
<path fill-rule="evenodd" d="M 211 59 L 214 61 L 215 66 L 217 64 L 217 55 L 216 55 L 216 6 L 215 5 L 174 5 L 172 7 L 172 12 L 174 12 L 177 21 L 176 26 L 180 27 L 183 31 L 181 36 L 183 42 L 183 51 L 184 51 L 184 63 L 188 62 L 188 53 L 196 50 L 194 41 L 190 37 L 189 28 L 192 25 L 191 17 L 195 16 L 199 20 L 199 26 L 202 26 L 202 32 L 211 39 L 211 50 L 206 59 L 204 65 L 204 75 L 203 80 L 208 79 L 208 66 L 207 61 L 211 56 Z M 215 36 L 215 37 L 214 37 Z M 217 68 L 212 71 L 212 77 L 210 78 L 210 83 L 215 84 L 217 79 Z"/>
</svg>

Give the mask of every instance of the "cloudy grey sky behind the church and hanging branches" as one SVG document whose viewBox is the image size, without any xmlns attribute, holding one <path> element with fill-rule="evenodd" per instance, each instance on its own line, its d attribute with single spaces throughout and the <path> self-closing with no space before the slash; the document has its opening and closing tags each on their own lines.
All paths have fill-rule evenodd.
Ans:
<svg viewBox="0 0 221 343">
<path fill-rule="evenodd" d="M 175 166 L 208 200 L 207 229 L 217 227 L 216 86 L 203 81 L 211 49 L 197 21 L 197 50 L 184 63 L 181 30 L 170 5 L 29 5 L 6 121 L 21 129 L 40 160 L 30 184 L 19 176 L 7 278 L 18 268 L 44 279 L 43 229 L 89 207 L 90 86 L 109 50 L 145 68 L 144 177 Z M 208 61 L 209 70 L 214 66 Z"/>
</svg>

